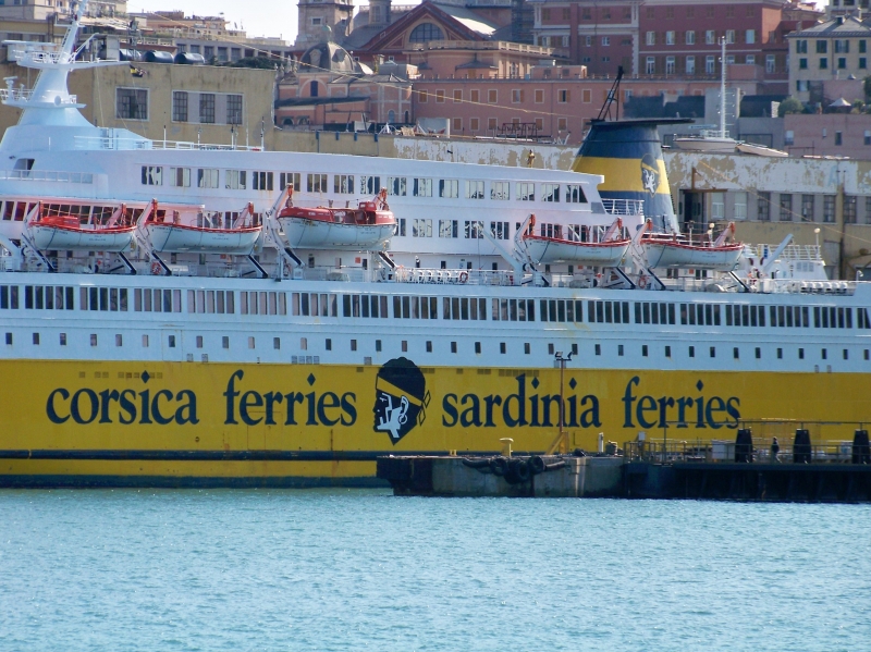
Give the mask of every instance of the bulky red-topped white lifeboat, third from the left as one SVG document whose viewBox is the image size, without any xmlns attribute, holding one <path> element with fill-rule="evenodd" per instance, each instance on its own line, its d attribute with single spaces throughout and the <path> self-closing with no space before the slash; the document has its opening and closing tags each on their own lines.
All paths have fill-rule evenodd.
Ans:
<svg viewBox="0 0 871 652">
<path fill-rule="evenodd" d="M 278 220 L 287 243 L 299 249 L 378 250 L 396 227 L 385 189 L 356 208 L 305 208 L 293 206 L 289 198 Z"/>
</svg>

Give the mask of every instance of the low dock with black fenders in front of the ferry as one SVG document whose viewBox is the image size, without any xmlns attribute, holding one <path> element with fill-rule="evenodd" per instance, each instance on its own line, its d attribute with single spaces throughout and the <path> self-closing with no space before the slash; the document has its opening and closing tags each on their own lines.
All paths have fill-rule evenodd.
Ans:
<svg viewBox="0 0 871 652">
<path fill-rule="evenodd" d="M 378 478 L 395 495 L 871 502 L 867 431 L 812 445 L 807 431 L 772 454 L 739 431 L 735 443 L 624 444 L 614 454 L 385 456 Z"/>
</svg>

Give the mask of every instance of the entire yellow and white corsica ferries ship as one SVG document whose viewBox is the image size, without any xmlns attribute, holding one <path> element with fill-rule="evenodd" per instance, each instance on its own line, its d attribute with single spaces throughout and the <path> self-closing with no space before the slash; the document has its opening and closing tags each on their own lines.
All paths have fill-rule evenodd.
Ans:
<svg viewBox="0 0 871 652">
<path fill-rule="evenodd" d="M 679 234 L 651 125 L 594 124 L 573 171 L 151 142 L 79 113 L 69 72 L 112 62 L 78 16 L 0 90 L 0 484 L 366 485 L 502 438 L 868 419 L 869 286 Z"/>
</svg>

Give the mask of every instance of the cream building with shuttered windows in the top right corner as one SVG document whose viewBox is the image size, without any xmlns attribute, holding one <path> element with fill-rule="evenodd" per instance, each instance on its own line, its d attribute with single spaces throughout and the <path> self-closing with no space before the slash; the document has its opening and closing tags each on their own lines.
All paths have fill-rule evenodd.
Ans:
<svg viewBox="0 0 871 652">
<path fill-rule="evenodd" d="M 787 36 L 789 41 L 789 95 L 805 102 L 831 103 L 825 83 L 862 79 L 869 74 L 871 26 L 854 16 L 834 20 Z M 826 100 L 829 100 L 826 102 Z"/>
</svg>

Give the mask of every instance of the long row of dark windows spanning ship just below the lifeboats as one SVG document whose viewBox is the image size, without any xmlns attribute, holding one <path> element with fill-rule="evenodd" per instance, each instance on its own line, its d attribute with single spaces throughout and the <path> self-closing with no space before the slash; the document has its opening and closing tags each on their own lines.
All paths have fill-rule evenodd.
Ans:
<svg viewBox="0 0 871 652">
<path fill-rule="evenodd" d="M 0 309 L 17 309 L 17 285 L 0 286 Z M 135 288 L 134 311 L 181 312 L 180 290 Z M 71 286 L 25 285 L 26 309 L 74 309 L 74 288 Z M 344 317 L 388 318 L 389 298 L 384 295 L 343 295 Z M 486 320 L 486 299 L 443 297 L 444 319 Z M 128 310 L 128 290 L 121 287 L 79 287 L 83 310 Z M 680 304 L 682 325 L 764 327 L 764 306 L 735 304 Z M 582 321 L 582 302 L 540 299 L 541 321 Z M 187 311 L 199 313 L 235 312 L 232 291 L 187 291 Z M 809 306 L 769 306 L 769 323 L 775 328 L 810 328 Z M 856 308 L 857 327 L 871 330 L 867 308 Z M 241 315 L 287 315 L 286 295 L 281 292 L 240 292 Z M 292 315 L 338 317 L 338 297 L 331 294 L 292 294 Z M 393 297 L 394 317 L 438 319 L 437 297 Z M 635 323 L 675 324 L 675 305 L 660 302 L 636 302 Z M 532 299 L 492 299 L 493 321 L 535 321 Z M 592 323 L 629 323 L 629 302 L 588 300 L 587 319 Z M 814 328 L 852 328 L 852 309 L 813 307 Z"/>
</svg>

